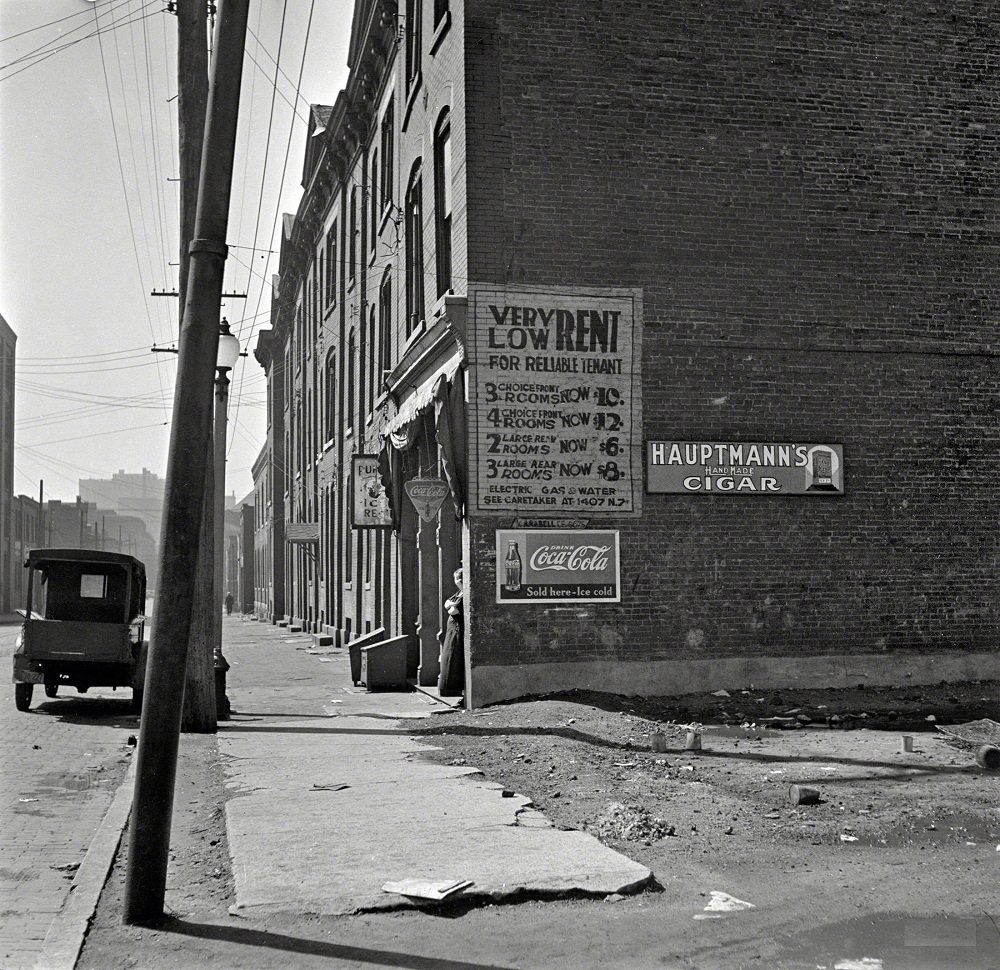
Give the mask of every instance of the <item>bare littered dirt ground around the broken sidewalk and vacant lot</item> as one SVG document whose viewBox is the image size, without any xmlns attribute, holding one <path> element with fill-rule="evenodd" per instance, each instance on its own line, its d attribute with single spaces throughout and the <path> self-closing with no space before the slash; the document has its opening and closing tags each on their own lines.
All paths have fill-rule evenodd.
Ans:
<svg viewBox="0 0 1000 970">
<path fill-rule="evenodd" d="M 121 925 L 126 837 L 78 967 L 812 970 L 847 966 L 838 959 L 845 952 L 884 954 L 886 970 L 998 967 L 1000 772 L 979 768 L 967 747 L 934 730 L 952 720 L 949 710 L 955 720 L 996 717 L 998 686 L 672 700 L 575 693 L 410 722 L 429 759 L 479 767 L 555 824 L 642 862 L 657 883 L 626 899 L 457 901 L 342 918 L 228 914 L 221 766 L 212 739 L 185 738 L 171 916 L 155 928 Z M 901 730 L 826 723 L 891 712 L 895 724 L 924 728 L 913 752 L 900 750 Z M 868 718 L 845 721 L 850 713 Z M 798 714 L 810 723 L 759 727 Z M 706 725 L 700 752 L 684 748 L 681 725 L 693 720 Z M 744 720 L 758 726 L 744 729 Z M 666 751 L 649 750 L 656 730 Z M 791 783 L 819 789 L 820 803 L 789 805 Z M 712 919 L 719 891 L 755 908 Z M 978 945 L 902 949 L 915 918 L 954 929 L 963 922 L 956 914 Z"/>
</svg>

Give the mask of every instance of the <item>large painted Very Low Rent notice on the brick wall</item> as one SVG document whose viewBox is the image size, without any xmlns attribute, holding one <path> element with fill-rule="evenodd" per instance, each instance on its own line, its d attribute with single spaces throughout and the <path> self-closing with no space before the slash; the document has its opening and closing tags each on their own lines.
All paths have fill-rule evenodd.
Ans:
<svg viewBox="0 0 1000 970">
<path fill-rule="evenodd" d="M 642 511 L 642 291 L 470 283 L 469 507 Z"/>
</svg>

